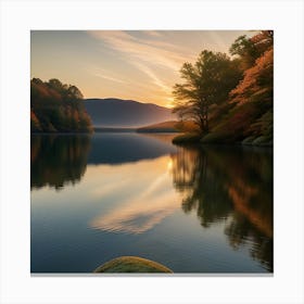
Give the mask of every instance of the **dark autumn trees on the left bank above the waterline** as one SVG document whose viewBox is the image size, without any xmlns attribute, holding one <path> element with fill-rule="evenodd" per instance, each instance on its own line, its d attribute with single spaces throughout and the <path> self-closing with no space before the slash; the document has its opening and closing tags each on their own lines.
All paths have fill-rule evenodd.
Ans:
<svg viewBox="0 0 304 304">
<path fill-rule="evenodd" d="M 59 79 L 30 80 L 31 132 L 91 132 L 92 124 L 75 86 Z"/>
</svg>

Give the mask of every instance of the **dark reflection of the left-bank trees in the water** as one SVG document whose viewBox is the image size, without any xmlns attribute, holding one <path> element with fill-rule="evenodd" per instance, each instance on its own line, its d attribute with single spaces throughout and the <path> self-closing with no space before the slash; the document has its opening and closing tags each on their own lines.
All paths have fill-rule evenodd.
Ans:
<svg viewBox="0 0 304 304">
<path fill-rule="evenodd" d="M 30 188 L 60 190 L 80 181 L 87 168 L 90 137 L 87 135 L 39 136 L 30 140 Z"/>
</svg>

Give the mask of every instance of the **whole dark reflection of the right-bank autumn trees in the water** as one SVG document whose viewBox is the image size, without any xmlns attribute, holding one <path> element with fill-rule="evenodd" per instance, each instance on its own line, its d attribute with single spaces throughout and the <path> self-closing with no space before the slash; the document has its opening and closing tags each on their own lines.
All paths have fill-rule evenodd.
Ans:
<svg viewBox="0 0 304 304">
<path fill-rule="evenodd" d="M 250 244 L 253 258 L 273 271 L 273 156 L 265 149 L 180 148 L 173 180 L 185 213 L 201 225 L 226 220 L 232 248 Z"/>
</svg>

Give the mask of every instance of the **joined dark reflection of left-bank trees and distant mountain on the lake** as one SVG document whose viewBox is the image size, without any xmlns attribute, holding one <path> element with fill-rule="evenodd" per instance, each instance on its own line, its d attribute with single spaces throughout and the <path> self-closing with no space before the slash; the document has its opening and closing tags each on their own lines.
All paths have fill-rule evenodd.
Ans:
<svg viewBox="0 0 304 304">
<path fill-rule="evenodd" d="M 121 165 L 173 153 L 173 136 L 155 135 L 151 139 L 137 134 L 33 135 L 30 187 L 60 190 L 80 181 L 90 164 Z"/>
</svg>

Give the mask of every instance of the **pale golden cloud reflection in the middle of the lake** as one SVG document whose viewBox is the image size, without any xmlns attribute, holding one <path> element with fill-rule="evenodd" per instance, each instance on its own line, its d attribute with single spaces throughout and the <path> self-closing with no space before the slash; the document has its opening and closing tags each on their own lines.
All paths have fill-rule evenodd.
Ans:
<svg viewBox="0 0 304 304">
<path fill-rule="evenodd" d="M 140 173 L 144 173 L 145 176 L 140 181 L 137 181 L 140 182 L 139 190 L 130 193 L 119 207 L 93 218 L 90 221 L 90 227 L 105 231 L 138 235 L 152 229 L 165 217 L 178 210 L 180 199 L 174 189 L 169 187 L 168 175 L 170 167 L 168 164 L 170 162 L 169 156 L 164 156 L 154 161 L 134 164 L 132 170 L 138 175 L 131 177 L 127 182 L 125 181 L 124 189 L 131 189 L 136 182 L 135 179 L 138 179 Z M 118 168 L 121 173 L 128 169 L 128 165 L 122 165 Z M 111 172 L 113 173 L 113 167 Z M 109 178 L 110 180 L 113 179 L 111 176 Z M 154 181 L 149 183 L 151 180 Z M 122 191 L 119 182 L 118 188 Z"/>
</svg>

